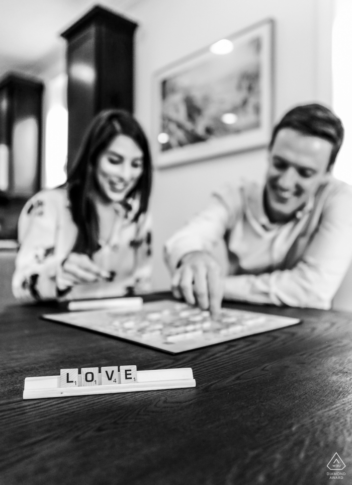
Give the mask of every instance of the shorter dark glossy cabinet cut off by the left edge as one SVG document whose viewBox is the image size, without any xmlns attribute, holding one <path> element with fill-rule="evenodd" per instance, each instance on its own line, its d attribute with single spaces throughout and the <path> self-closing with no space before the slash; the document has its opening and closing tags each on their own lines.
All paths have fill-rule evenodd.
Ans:
<svg viewBox="0 0 352 485">
<path fill-rule="evenodd" d="M 17 74 L 0 82 L 0 239 L 17 238 L 20 211 L 40 189 L 43 88 Z"/>
</svg>

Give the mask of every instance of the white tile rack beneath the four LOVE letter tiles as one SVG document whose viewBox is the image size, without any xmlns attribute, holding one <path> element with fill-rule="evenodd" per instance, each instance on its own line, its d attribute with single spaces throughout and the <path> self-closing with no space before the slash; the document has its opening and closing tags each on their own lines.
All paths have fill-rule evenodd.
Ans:
<svg viewBox="0 0 352 485">
<path fill-rule="evenodd" d="M 99 383 L 101 383 L 99 373 Z M 96 386 L 80 386 L 78 374 L 77 387 L 60 387 L 60 376 L 26 377 L 23 391 L 24 399 L 41 399 L 45 397 L 69 397 L 92 394 L 114 394 L 117 392 L 139 392 L 160 389 L 178 389 L 195 387 L 191 367 L 179 369 L 137 370 L 137 382 L 132 384 L 110 384 Z"/>
</svg>

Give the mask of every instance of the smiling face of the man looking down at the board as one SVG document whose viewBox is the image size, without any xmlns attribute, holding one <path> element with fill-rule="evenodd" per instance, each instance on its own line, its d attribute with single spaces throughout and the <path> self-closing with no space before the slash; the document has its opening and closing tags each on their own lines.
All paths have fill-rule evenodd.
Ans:
<svg viewBox="0 0 352 485">
<path fill-rule="evenodd" d="M 269 153 L 266 209 L 272 222 L 286 222 L 326 180 L 332 144 L 283 128 Z"/>
</svg>

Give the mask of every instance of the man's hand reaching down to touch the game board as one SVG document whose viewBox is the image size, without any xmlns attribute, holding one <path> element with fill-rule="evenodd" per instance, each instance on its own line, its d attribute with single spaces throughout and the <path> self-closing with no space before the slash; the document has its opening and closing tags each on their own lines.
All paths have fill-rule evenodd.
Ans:
<svg viewBox="0 0 352 485">
<path fill-rule="evenodd" d="M 203 310 L 209 308 L 214 317 L 220 312 L 223 288 L 219 264 L 204 251 L 185 255 L 172 278 L 175 298 L 184 297 L 187 303 L 198 304 Z"/>
</svg>

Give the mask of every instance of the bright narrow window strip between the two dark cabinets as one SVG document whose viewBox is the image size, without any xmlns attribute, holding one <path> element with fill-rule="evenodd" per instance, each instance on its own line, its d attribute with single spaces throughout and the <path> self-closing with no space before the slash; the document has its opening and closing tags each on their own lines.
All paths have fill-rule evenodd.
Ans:
<svg viewBox="0 0 352 485">
<path fill-rule="evenodd" d="M 45 120 L 45 178 L 44 187 L 52 188 L 66 181 L 67 76 L 60 74 L 47 84 L 47 114 Z"/>
</svg>

